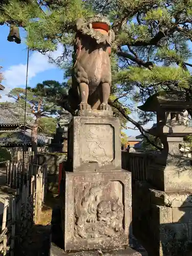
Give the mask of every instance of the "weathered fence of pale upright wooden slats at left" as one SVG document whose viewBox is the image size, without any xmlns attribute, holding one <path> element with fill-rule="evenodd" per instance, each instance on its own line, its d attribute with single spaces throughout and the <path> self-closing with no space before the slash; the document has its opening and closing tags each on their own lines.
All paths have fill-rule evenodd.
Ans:
<svg viewBox="0 0 192 256">
<path fill-rule="evenodd" d="M 4 204 L 2 212 L 0 207 L 0 255 L 12 256 L 41 213 L 47 192 L 47 166 L 7 162 L 7 188 L 10 191 L 0 195 Z"/>
</svg>

